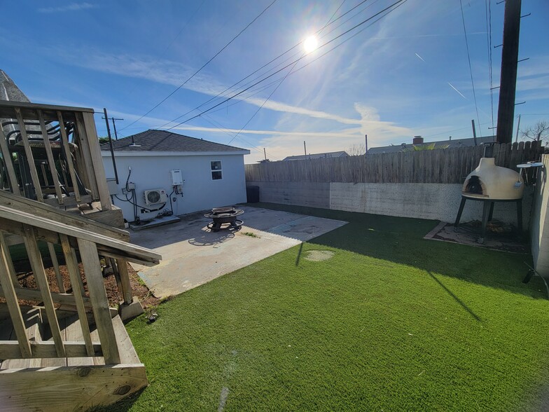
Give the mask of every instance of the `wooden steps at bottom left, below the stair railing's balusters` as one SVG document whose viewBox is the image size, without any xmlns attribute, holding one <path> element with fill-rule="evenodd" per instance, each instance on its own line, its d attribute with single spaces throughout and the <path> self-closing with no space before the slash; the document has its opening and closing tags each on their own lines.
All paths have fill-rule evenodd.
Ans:
<svg viewBox="0 0 549 412">
<path fill-rule="evenodd" d="M 111 404 L 145 387 L 148 384 L 145 366 L 139 361 L 120 316 L 116 310 L 111 313 L 120 364 L 105 364 L 90 313 L 88 324 L 97 356 L 55 357 L 53 351 L 52 357 L 0 361 L 2 410 L 85 411 Z M 43 308 L 22 307 L 22 315 L 31 344 L 53 343 Z M 76 310 L 57 309 L 56 315 L 65 346 L 84 343 Z M 0 304 L 0 340 L 17 343 L 6 304 Z"/>
</svg>

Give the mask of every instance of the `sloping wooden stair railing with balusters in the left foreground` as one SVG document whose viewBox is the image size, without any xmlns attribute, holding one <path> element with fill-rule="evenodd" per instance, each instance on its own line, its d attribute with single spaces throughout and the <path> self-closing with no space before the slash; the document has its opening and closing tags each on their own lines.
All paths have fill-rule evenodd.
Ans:
<svg viewBox="0 0 549 412">
<path fill-rule="evenodd" d="M 105 234 L 94 233 L 81 227 L 75 228 L 73 226 L 75 220 L 71 220 L 74 217 L 61 222 L 39 216 L 43 213 L 44 210 L 38 214 L 31 214 L 0 202 L 0 284 L 18 339 L 17 341 L 0 341 L 0 359 L 102 356 L 105 364 L 119 364 L 120 353 L 111 321 L 100 256 L 118 260 L 118 270 L 125 268 L 125 261 L 153 266 L 159 263 L 161 256 L 144 247 L 132 245 Z M 83 224 L 79 219 L 76 221 Z M 27 289 L 24 293 L 25 288 L 19 287 L 5 233 L 20 235 L 23 238 L 38 290 Z M 46 240 L 52 245 L 61 245 L 67 263 L 71 294 L 54 294 L 50 290 L 43 266 L 43 256 L 38 245 L 39 240 Z M 81 273 L 76 260 L 77 252 L 81 257 L 89 297 L 84 296 Z M 122 273 L 123 270 L 120 272 Z M 27 337 L 18 298 L 27 298 L 29 294 L 33 294 L 38 298 L 37 300 L 43 302 L 43 313 L 46 315 L 53 341 L 31 341 Z M 84 337 L 83 342 L 62 340 L 55 313 L 55 303 L 62 300 L 76 306 Z M 90 336 L 86 315 L 87 308 L 90 307 L 99 342 L 93 342 Z"/>
</svg>

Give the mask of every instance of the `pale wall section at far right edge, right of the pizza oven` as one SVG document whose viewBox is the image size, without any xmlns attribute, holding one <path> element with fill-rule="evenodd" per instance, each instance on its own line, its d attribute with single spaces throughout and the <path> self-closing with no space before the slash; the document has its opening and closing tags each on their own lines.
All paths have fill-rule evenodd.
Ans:
<svg viewBox="0 0 549 412">
<path fill-rule="evenodd" d="M 534 268 L 549 277 L 549 155 L 543 155 L 543 168 L 538 171 L 534 212 L 531 219 L 531 251 Z"/>
</svg>

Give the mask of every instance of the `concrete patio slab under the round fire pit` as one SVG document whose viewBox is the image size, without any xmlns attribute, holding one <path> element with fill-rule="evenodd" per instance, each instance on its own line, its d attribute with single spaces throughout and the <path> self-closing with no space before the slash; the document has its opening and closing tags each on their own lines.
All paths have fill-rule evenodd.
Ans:
<svg viewBox="0 0 549 412">
<path fill-rule="evenodd" d="M 237 232 L 209 231 L 211 219 L 202 214 L 182 217 L 175 224 L 132 231 L 132 243 L 162 254 L 158 266 L 132 266 L 155 296 L 173 296 L 347 224 L 257 207 L 239 208 L 244 210 L 240 217 L 244 226 Z"/>
</svg>

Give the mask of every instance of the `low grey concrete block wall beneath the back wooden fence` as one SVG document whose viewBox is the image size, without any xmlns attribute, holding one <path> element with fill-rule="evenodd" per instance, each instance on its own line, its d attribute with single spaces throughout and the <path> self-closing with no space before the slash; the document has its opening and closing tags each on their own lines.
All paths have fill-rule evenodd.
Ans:
<svg viewBox="0 0 549 412">
<path fill-rule="evenodd" d="M 289 183 L 248 181 L 259 186 L 262 202 L 321 207 L 417 219 L 454 222 L 461 202 L 461 184 L 435 183 Z M 524 190 L 522 221 L 528 227 L 532 190 Z M 461 221 L 482 219 L 482 202 L 468 200 Z M 499 202 L 494 219 L 517 224 L 515 202 Z M 548 224 L 549 228 L 549 224 Z"/>
</svg>

